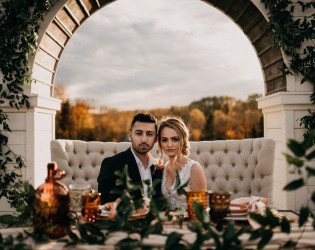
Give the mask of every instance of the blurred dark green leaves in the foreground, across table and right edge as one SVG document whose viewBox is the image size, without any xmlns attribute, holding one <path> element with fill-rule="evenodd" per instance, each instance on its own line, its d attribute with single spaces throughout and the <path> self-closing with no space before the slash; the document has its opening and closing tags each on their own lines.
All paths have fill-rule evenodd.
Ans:
<svg viewBox="0 0 315 250">
<path fill-rule="evenodd" d="M 315 137 L 315 131 L 311 131 L 308 136 L 304 138 L 302 142 L 290 140 L 288 147 L 292 151 L 293 155 L 285 154 L 287 161 L 290 165 L 294 166 L 293 173 L 297 173 L 300 176 L 298 179 L 288 183 L 284 190 L 291 191 L 297 190 L 308 184 L 308 179 L 315 176 L 315 169 L 310 166 L 310 161 L 315 159 L 315 149 L 312 148 L 312 141 Z M 142 188 L 142 185 L 134 185 L 131 183 L 128 176 L 127 167 L 122 173 L 116 173 L 119 176 L 117 185 L 120 187 L 114 192 L 120 194 L 121 202 L 117 207 L 117 214 L 115 221 L 105 220 L 100 221 L 97 224 L 80 224 L 76 223 L 76 228 L 79 234 L 75 234 L 74 231 L 68 230 L 66 233 L 68 238 L 60 240 L 64 242 L 65 246 L 71 246 L 79 243 L 87 244 L 106 244 L 106 240 L 110 237 L 110 234 L 116 231 L 125 231 L 128 236 L 117 243 L 117 246 L 121 249 L 151 249 L 153 246 L 144 244 L 144 239 L 148 238 L 151 234 L 161 234 L 166 238 L 165 249 L 200 249 L 205 241 L 213 240 L 213 249 L 248 249 L 242 245 L 240 237 L 244 234 L 249 235 L 249 241 L 257 241 L 257 248 L 263 249 L 268 242 L 272 239 L 275 229 L 279 229 L 284 233 L 290 233 L 290 223 L 286 218 L 278 218 L 268 208 L 265 215 L 251 213 L 250 217 L 256 220 L 261 227 L 253 230 L 248 226 L 238 229 L 234 222 L 228 222 L 226 227 L 222 231 L 218 231 L 215 228 L 213 222 L 211 222 L 209 215 L 203 209 L 203 206 L 197 202 L 194 202 L 194 211 L 197 216 L 197 221 L 193 220 L 187 223 L 187 228 L 196 235 L 194 242 L 187 242 L 183 235 L 172 232 L 165 234 L 163 230 L 163 222 L 171 221 L 173 218 L 168 211 L 165 211 L 167 207 L 167 201 L 163 197 L 152 198 L 150 202 L 150 212 L 144 219 L 129 220 L 133 211 L 141 207 L 143 200 L 134 200 L 133 192 Z M 177 173 L 176 183 L 178 187 L 178 193 L 184 194 L 184 187 L 187 183 L 181 185 L 179 175 Z M 157 182 L 153 183 L 157 185 Z M 34 189 L 29 185 L 24 185 L 24 196 L 28 197 L 29 201 L 32 201 Z M 154 188 L 149 188 L 149 194 L 151 197 L 155 194 Z M 305 223 L 310 217 L 310 202 L 315 203 L 315 192 L 310 194 L 308 203 L 301 207 L 299 226 L 303 229 Z M 21 207 L 18 216 L 0 216 L 0 223 L 6 225 L 19 225 L 21 218 L 25 218 L 25 215 L 32 215 L 32 203 L 28 203 Z M 182 225 L 182 220 L 177 220 L 179 225 Z M 313 228 L 315 229 L 315 223 L 313 220 Z M 301 230 L 303 232 L 303 230 Z M 130 237 L 131 234 L 136 234 L 139 237 Z M 12 236 L 3 238 L 0 234 L 0 249 L 29 249 L 30 246 L 23 244 L 21 239 L 27 237 L 33 237 L 37 240 L 49 240 L 47 237 L 38 237 L 33 234 L 19 234 L 15 241 Z M 298 242 L 288 240 L 285 244 L 279 245 L 279 247 L 294 247 Z M 212 249 L 212 248 L 209 248 Z"/>
</svg>

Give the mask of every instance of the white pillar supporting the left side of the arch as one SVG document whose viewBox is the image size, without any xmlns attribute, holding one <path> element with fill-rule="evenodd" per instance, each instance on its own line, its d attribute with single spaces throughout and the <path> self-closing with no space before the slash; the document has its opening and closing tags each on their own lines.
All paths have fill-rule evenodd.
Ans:
<svg viewBox="0 0 315 250">
<path fill-rule="evenodd" d="M 50 161 L 50 141 L 55 138 L 55 115 L 61 101 L 51 97 L 30 95 L 30 109 L 2 106 L 9 116 L 9 147 L 26 161 L 22 169 L 24 180 L 35 188 L 42 184 L 47 175 L 46 165 Z M 0 214 L 11 212 L 6 199 L 0 201 Z"/>
</svg>

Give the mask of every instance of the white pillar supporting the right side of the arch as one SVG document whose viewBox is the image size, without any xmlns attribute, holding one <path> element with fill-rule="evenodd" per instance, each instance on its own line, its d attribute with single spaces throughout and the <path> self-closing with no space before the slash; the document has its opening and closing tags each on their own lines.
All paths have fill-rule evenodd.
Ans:
<svg viewBox="0 0 315 250">
<path fill-rule="evenodd" d="M 262 109 L 264 115 L 264 137 L 276 141 L 274 204 L 295 211 L 306 203 L 307 188 L 283 191 L 283 187 L 297 177 L 289 173 L 293 166 L 288 166 L 283 153 L 291 153 L 286 145 L 289 139 L 303 140 L 305 130 L 300 126 L 300 119 L 308 114 L 308 109 L 314 109 L 310 95 L 311 92 L 279 92 L 257 100 L 258 108 Z M 314 179 L 308 188 L 314 190 Z"/>
</svg>

